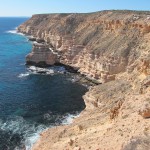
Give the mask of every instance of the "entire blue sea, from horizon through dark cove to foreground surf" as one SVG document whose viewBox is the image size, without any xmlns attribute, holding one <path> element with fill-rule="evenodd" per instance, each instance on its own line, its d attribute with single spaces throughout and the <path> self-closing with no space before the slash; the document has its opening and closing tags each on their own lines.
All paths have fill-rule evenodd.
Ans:
<svg viewBox="0 0 150 150">
<path fill-rule="evenodd" d="M 26 20 L 0 18 L 0 150 L 30 149 L 40 131 L 85 107 L 86 88 L 72 83 L 72 75 L 29 73 L 25 56 L 32 43 L 8 32 Z"/>
</svg>

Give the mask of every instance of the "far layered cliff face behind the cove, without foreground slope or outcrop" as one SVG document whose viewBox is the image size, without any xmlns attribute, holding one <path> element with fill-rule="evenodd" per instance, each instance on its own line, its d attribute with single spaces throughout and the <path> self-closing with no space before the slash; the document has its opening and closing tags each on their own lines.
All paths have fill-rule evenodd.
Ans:
<svg viewBox="0 0 150 150">
<path fill-rule="evenodd" d="M 149 51 L 141 46 L 149 18 L 148 12 L 132 11 L 34 15 L 18 31 L 51 45 L 61 53 L 61 63 L 104 83 Z"/>
</svg>

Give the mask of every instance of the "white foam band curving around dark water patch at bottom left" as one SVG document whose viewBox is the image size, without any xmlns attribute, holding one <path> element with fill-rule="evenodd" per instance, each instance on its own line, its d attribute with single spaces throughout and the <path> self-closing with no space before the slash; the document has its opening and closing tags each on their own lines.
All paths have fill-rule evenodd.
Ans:
<svg viewBox="0 0 150 150">
<path fill-rule="evenodd" d="M 10 118 L 7 121 L 0 120 L 0 129 L 3 131 L 11 131 L 13 134 L 23 134 L 23 143 L 26 150 L 31 150 L 33 144 L 40 137 L 40 133 L 44 131 L 47 127 L 44 125 L 36 125 L 36 123 L 28 123 L 23 117 L 16 116 L 15 118 Z M 16 150 L 20 149 L 16 147 Z"/>
</svg>

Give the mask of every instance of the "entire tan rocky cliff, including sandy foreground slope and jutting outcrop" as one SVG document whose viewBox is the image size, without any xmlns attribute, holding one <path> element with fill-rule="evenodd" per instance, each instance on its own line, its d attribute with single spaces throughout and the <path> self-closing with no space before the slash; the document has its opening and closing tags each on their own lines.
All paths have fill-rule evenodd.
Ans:
<svg viewBox="0 0 150 150">
<path fill-rule="evenodd" d="M 103 83 L 73 124 L 42 133 L 33 149 L 150 148 L 150 12 L 33 15 L 18 31 L 40 43 L 27 63 L 62 63 Z"/>
</svg>

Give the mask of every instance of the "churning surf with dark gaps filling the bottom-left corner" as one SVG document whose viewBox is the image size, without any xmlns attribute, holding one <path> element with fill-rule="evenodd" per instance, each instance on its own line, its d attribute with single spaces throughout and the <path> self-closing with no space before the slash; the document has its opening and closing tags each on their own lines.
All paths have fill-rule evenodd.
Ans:
<svg viewBox="0 0 150 150">
<path fill-rule="evenodd" d="M 34 142 L 39 138 L 39 133 L 44 129 L 46 129 L 46 126 L 38 126 L 36 123 L 31 124 L 20 116 L 11 117 L 5 121 L 0 120 L 0 130 L 4 132 L 5 136 L 3 138 L 6 140 L 6 145 L 2 145 L 1 148 L 3 149 L 7 146 L 11 149 L 19 150 L 26 147 L 26 150 L 30 150 Z M 8 139 L 7 134 L 10 137 Z M 15 143 L 17 147 L 14 147 L 11 143 Z"/>
</svg>

